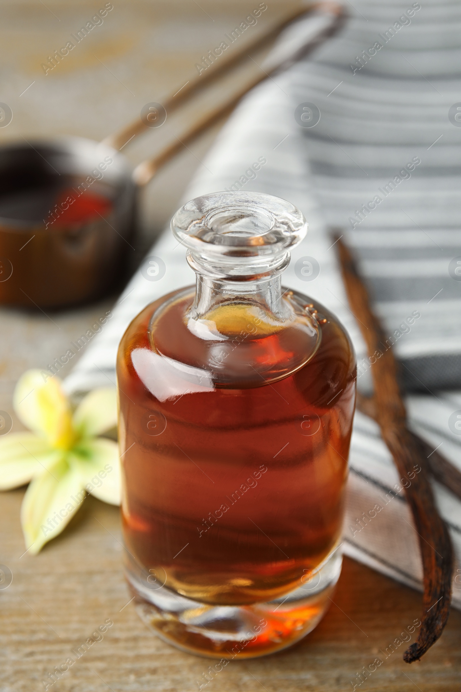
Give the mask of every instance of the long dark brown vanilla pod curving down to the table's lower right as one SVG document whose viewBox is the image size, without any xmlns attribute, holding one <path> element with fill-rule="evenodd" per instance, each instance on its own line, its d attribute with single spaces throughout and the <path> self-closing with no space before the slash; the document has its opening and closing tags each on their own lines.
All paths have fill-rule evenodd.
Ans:
<svg viewBox="0 0 461 692">
<path fill-rule="evenodd" d="M 404 653 L 404 661 L 412 663 L 419 660 L 437 641 L 448 619 L 453 549 L 448 529 L 435 505 L 424 445 L 406 425 L 406 410 L 397 383 L 397 363 L 393 351 L 383 349 L 386 337 L 370 307 L 366 286 L 359 276 L 350 251 L 339 237 L 335 237 L 335 241 L 350 307 L 357 317 L 368 355 L 377 356 L 371 374 L 375 419 L 382 438 L 402 476 L 413 471 L 415 462 L 422 468 L 411 486 L 405 490 L 420 539 L 424 581 L 420 633 L 417 641 Z"/>
</svg>

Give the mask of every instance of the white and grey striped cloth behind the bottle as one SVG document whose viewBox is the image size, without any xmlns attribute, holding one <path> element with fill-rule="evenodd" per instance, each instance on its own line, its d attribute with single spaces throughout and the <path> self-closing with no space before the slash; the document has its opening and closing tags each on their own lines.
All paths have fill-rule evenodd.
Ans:
<svg viewBox="0 0 461 692">
<path fill-rule="evenodd" d="M 332 246 L 331 228 L 340 229 L 360 257 L 403 364 L 412 428 L 461 468 L 461 5 L 361 0 L 348 8 L 337 37 L 247 95 L 186 197 L 234 186 L 301 208 L 310 232 L 293 253 L 284 283 L 326 304 L 346 325 L 365 391 L 373 365 Z M 288 28 L 281 46 L 309 26 L 305 19 Z M 382 47 L 373 48 L 377 43 Z M 318 114 L 317 124 L 306 127 Z M 255 173 L 250 167 L 258 160 L 265 163 Z M 150 255 L 164 262 L 164 275 L 147 280 L 141 268 L 133 277 L 113 319 L 68 377 L 70 392 L 106 385 L 107 378 L 115 382 L 117 344 L 130 320 L 148 302 L 194 282 L 185 248 L 169 230 Z M 295 271 L 305 258 L 308 276 Z M 376 424 L 359 412 L 350 469 L 345 552 L 421 588 L 417 534 L 402 482 Z M 461 502 L 434 486 L 458 556 L 453 603 L 461 607 Z"/>
</svg>

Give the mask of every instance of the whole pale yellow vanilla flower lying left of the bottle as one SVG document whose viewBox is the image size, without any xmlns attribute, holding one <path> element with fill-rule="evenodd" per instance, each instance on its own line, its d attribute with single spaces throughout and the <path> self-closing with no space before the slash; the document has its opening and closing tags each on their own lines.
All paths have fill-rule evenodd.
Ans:
<svg viewBox="0 0 461 692">
<path fill-rule="evenodd" d="M 37 554 L 61 533 L 87 492 L 120 504 L 117 444 L 97 437 L 116 425 L 116 390 L 93 390 L 73 412 L 59 378 L 28 370 L 16 385 L 13 406 L 32 432 L 0 437 L 0 490 L 30 481 L 21 524 L 28 552 Z"/>
</svg>

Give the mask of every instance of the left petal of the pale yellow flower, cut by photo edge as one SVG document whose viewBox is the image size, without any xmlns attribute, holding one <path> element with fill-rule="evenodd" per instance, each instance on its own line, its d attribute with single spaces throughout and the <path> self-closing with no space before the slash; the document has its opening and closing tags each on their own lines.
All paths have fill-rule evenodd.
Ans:
<svg viewBox="0 0 461 692">
<path fill-rule="evenodd" d="M 59 450 L 32 432 L 14 432 L 0 437 L 0 490 L 28 483 L 57 461 Z"/>
</svg>

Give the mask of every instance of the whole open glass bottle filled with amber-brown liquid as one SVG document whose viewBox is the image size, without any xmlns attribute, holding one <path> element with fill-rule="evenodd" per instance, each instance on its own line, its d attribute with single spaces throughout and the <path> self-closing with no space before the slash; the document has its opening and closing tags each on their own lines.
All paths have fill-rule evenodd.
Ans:
<svg viewBox="0 0 461 692">
<path fill-rule="evenodd" d="M 171 228 L 196 287 L 140 312 L 117 359 L 126 576 L 165 641 L 265 655 L 317 625 L 341 571 L 355 355 L 281 286 L 307 231 L 292 204 L 218 192 Z"/>
</svg>

